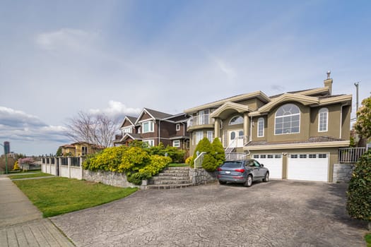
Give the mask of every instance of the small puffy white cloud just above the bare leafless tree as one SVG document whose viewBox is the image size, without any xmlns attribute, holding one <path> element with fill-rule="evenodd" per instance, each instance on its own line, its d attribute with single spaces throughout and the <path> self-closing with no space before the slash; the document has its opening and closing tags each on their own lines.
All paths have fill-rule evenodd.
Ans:
<svg viewBox="0 0 371 247">
<path fill-rule="evenodd" d="M 126 107 L 126 105 L 122 104 L 122 102 L 110 100 L 110 102 L 108 102 L 107 108 L 90 109 L 89 112 L 91 114 L 106 114 L 107 116 L 111 116 L 114 119 L 116 119 L 116 118 L 123 118 L 123 116 L 126 116 L 126 115 L 136 116 L 141 112 L 141 109 Z"/>
</svg>

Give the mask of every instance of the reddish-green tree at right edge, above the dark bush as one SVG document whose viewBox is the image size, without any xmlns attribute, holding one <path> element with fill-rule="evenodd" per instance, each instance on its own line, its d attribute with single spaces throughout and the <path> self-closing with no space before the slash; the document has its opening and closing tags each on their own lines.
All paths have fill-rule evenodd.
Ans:
<svg viewBox="0 0 371 247">
<path fill-rule="evenodd" d="M 354 128 L 360 137 L 371 137 L 371 97 L 362 101 L 362 106 L 357 112 L 357 121 Z"/>
</svg>

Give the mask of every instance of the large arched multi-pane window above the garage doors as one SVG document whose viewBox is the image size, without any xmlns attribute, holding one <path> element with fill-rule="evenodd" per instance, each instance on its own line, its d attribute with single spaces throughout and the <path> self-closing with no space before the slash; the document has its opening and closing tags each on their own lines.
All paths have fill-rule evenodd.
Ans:
<svg viewBox="0 0 371 247">
<path fill-rule="evenodd" d="M 295 104 L 284 104 L 278 108 L 275 116 L 274 134 L 300 132 L 300 109 Z"/>
</svg>

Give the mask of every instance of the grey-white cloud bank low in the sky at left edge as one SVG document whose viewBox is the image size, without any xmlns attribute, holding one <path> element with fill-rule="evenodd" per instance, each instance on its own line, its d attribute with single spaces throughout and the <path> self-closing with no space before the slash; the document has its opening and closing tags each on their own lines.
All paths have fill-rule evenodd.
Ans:
<svg viewBox="0 0 371 247">
<path fill-rule="evenodd" d="M 37 116 L 8 107 L 0 107 L 0 126 L 1 139 L 9 141 L 67 141 L 64 126 L 49 126 Z"/>
</svg>

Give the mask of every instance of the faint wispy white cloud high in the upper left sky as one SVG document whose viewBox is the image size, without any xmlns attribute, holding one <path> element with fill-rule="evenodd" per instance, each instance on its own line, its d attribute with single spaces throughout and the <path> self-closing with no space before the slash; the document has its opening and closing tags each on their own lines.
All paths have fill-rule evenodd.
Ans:
<svg viewBox="0 0 371 247">
<path fill-rule="evenodd" d="M 46 50 L 59 48 L 83 49 L 86 44 L 97 37 L 96 33 L 84 30 L 61 28 L 53 32 L 42 32 L 35 37 L 36 44 Z"/>
</svg>

